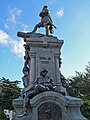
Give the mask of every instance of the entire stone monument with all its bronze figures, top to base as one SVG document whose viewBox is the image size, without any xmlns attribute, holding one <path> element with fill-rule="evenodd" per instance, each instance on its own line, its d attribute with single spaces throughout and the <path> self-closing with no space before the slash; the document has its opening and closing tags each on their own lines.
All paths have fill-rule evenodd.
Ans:
<svg viewBox="0 0 90 120">
<path fill-rule="evenodd" d="M 25 41 L 22 96 L 13 100 L 13 120 L 86 120 L 80 112 L 82 100 L 71 97 L 62 86 L 61 47 L 64 43 L 52 36 L 53 24 L 47 6 L 39 16 L 41 22 L 32 32 L 18 32 Z M 44 27 L 45 34 L 36 33 Z"/>
</svg>

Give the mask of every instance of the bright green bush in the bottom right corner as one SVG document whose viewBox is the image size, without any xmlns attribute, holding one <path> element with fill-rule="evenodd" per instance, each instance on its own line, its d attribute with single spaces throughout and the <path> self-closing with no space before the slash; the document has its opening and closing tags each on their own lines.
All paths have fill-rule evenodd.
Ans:
<svg viewBox="0 0 90 120">
<path fill-rule="evenodd" d="M 81 106 L 81 112 L 88 120 L 90 120 L 90 100 L 84 101 Z"/>
</svg>

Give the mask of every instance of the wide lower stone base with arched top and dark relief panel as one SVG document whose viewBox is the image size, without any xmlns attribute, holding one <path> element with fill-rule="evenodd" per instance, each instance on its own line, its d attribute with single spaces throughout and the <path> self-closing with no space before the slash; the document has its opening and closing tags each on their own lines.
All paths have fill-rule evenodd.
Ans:
<svg viewBox="0 0 90 120">
<path fill-rule="evenodd" d="M 23 118 L 17 118 L 23 110 L 23 99 L 14 100 L 13 104 L 17 111 L 13 120 L 86 120 L 80 112 L 81 99 L 57 92 L 43 92 L 32 98 L 30 114 Z"/>
</svg>

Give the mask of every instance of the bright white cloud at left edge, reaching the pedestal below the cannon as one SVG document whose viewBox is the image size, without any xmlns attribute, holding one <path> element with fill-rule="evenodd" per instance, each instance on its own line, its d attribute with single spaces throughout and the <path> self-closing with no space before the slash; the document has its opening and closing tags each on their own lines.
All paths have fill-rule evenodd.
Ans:
<svg viewBox="0 0 90 120">
<path fill-rule="evenodd" d="M 17 41 L 13 39 L 11 36 L 9 36 L 6 32 L 3 30 L 0 30 L 0 44 L 8 45 L 11 49 L 11 51 L 16 54 L 19 57 L 24 56 L 24 47 L 25 44 L 23 39 L 20 41 Z"/>
</svg>

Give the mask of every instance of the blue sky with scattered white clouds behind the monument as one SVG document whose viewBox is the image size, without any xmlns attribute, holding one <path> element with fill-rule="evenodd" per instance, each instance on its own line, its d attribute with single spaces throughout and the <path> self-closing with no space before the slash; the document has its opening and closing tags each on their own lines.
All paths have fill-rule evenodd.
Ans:
<svg viewBox="0 0 90 120">
<path fill-rule="evenodd" d="M 60 71 L 68 78 L 85 70 L 90 61 L 90 0 L 1 0 L 0 78 L 22 81 L 24 41 L 17 32 L 32 31 L 44 5 L 57 26 L 53 36 L 64 40 Z M 44 28 L 37 32 L 44 33 Z"/>
</svg>

